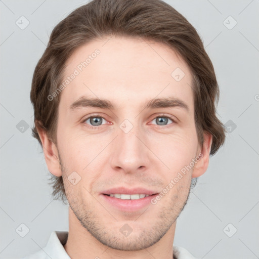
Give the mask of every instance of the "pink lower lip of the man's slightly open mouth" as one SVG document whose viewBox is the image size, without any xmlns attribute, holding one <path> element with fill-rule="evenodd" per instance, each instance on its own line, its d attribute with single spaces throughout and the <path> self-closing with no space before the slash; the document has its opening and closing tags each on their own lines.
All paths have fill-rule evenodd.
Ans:
<svg viewBox="0 0 259 259">
<path fill-rule="evenodd" d="M 109 202 L 114 207 L 123 210 L 123 211 L 137 211 L 148 204 L 151 203 L 151 200 L 158 194 L 153 194 L 145 198 L 141 198 L 138 200 L 122 200 L 114 197 L 110 197 L 105 194 L 101 194 L 101 196 L 104 198 L 106 202 Z"/>
</svg>

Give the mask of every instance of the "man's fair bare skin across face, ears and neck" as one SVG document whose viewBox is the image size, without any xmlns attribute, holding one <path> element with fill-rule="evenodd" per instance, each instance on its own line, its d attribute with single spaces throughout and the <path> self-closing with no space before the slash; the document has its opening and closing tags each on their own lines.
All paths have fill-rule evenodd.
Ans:
<svg viewBox="0 0 259 259">
<path fill-rule="evenodd" d="M 100 50 L 61 93 L 57 146 L 38 129 L 49 171 L 64 179 L 69 202 L 69 235 L 64 248 L 73 259 L 85 255 L 169 259 L 176 220 L 188 200 L 192 177 L 207 169 L 212 137 L 204 133 L 203 146 L 199 145 L 192 76 L 179 55 L 165 45 L 140 38 L 108 39 L 78 48 L 66 62 L 64 78 L 84 57 Z M 176 68 L 185 73 L 180 81 L 171 76 Z M 110 100 L 117 108 L 70 110 L 82 96 Z M 146 101 L 163 97 L 183 100 L 190 112 L 179 107 L 142 109 Z M 83 121 L 90 115 L 101 117 L 98 129 L 91 128 L 96 124 L 90 119 Z M 173 116 L 175 122 L 168 119 L 158 124 L 155 118 L 164 116 Z M 133 125 L 128 133 L 119 127 L 125 119 Z M 100 195 L 118 186 L 159 193 L 199 153 L 203 157 L 155 205 L 123 212 Z M 76 185 L 67 179 L 73 171 L 81 177 Z M 120 232 L 124 224 L 133 230 L 127 237 Z"/>
</svg>

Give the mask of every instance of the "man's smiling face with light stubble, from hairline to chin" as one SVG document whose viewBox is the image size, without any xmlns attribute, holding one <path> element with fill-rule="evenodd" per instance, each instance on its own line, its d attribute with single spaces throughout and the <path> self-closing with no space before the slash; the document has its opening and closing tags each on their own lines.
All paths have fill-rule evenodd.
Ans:
<svg viewBox="0 0 259 259">
<path fill-rule="evenodd" d="M 73 78 L 60 93 L 57 147 L 81 226 L 109 247 L 139 250 L 170 230 L 189 195 L 200 151 L 192 77 L 164 45 L 107 40 L 80 47 L 66 62 L 63 81 Z M 127 195 L 107 195 L 114 193 Z"/>
</svg>

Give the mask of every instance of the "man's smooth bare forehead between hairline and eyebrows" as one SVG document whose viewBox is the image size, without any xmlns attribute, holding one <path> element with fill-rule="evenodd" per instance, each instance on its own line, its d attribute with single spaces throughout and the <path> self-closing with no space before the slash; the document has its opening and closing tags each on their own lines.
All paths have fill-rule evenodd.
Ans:
<svg viewBox="0 0 259 259">
<path fill-rule="evenodd" d="M 158 42 L 115 36 L 93 40 L 67 60 L 62 82 L 68 77 L 61 95 L 66 108 L 84 96 L 110 100 L 118 108 L 176 97 L 193 109 L 190 69 L 180 55 Z"/>
</svg>

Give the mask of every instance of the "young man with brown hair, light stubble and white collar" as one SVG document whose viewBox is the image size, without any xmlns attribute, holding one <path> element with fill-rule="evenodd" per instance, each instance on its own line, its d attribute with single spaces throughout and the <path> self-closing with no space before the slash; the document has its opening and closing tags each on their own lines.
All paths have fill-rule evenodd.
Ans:
<svg viewBox="0 0 259 259">
<path fill-rule="evenodd" d="M 26 258 L 194 258 L 173 242 L 225 141 L 218 97 L 196 30 L 162 1 L 94 0 L 61 21 L 31 101 L 69 231 Z"/>
</svg>

